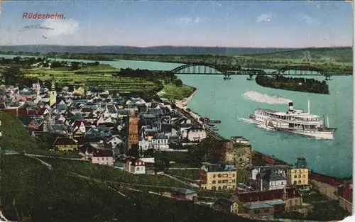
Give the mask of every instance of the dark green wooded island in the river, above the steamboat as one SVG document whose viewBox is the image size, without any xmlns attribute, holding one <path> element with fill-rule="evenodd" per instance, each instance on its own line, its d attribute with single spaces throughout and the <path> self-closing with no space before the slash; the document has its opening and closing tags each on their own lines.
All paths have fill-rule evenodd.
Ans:
<svg viewBox="0 0 355 222">
<path fill-rule="evenodd" d="M 293 77 L 268 77 L 258 74 L 255 82 L 262 87 L 285 89 L 291 91 L 305 91 L 317 94 L 329 94 L 327 82 L 316 79 L 293 78 Z"/>
</svg>

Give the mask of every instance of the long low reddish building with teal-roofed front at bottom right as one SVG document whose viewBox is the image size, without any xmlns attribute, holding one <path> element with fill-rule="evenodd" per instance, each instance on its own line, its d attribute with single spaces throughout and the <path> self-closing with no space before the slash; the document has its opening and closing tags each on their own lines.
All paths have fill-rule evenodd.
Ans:
<svg viewBox="0 0 355 222">
<path fill-rule="evenodd" d="M 239 193 L 232 196 L 231 201 L 235 201 L 238 204 L 239 213 L 253 214 L 272 213 L 266 212 L 266 209 L 268 209 L 268 211 L 280 213 L 302 206 L 302 196 L 295 187 L 272 189 L 261 192 Z M 273 206 L 273 209 L 264 204 Z"/>
</svg>

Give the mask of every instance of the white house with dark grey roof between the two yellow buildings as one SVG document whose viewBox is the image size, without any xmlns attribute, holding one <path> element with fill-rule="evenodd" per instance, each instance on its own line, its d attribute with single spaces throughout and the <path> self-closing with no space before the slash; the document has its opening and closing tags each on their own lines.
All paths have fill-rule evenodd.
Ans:
<svg viewBox="0 0 355 222">
<path fill-rule="evenodd" d="M 264 172 L 259 172 L 256 175 L 257 189 L 258 190 L 270 190 L 270 189 L 283 189 L 286 187 L 287 179 L 275 172 L 268 169 Z"/>
</svg>

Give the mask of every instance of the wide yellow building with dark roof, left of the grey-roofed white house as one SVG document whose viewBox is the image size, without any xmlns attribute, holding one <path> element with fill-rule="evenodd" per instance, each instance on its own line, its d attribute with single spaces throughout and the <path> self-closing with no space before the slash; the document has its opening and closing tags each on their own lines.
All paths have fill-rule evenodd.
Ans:
<svg viewBox="0 0 355 222">
<path fill-rule="evenodd" d="M 202 163 L 200 170 L 201 189 L 236 189 L 236 167 L 229 163 Z"/>
</svg>

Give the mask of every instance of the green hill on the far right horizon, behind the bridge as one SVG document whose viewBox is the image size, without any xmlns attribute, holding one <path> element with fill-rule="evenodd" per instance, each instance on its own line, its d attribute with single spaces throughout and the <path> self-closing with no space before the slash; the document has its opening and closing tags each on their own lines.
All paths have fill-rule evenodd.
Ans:
<svg viewBox="0 0 355 222">
<path fill-rule="evenodd" d="M 300 60 L 301 62 L 352 62 L 353 50 L 351 47 L 305 48 L 300 50 L 261 53 L 246 56 L 266 60 Z"/>
</svg>

